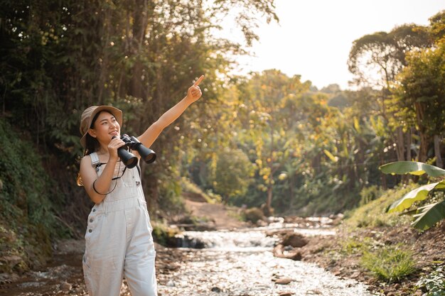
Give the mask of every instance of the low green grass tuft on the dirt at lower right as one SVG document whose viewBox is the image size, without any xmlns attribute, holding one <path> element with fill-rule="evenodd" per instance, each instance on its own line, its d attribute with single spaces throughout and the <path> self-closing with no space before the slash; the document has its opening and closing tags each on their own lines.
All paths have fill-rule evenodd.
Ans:
<svg viewBox="0 0 445 296">
<path fill-rule="evenodd" d="M 401 245 L 366 251 L 360 262 L 377 278 L 389 283 L 400 281 L 416 270 L 412 252 L 404 250 Z"/>
</svg>

